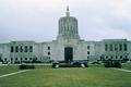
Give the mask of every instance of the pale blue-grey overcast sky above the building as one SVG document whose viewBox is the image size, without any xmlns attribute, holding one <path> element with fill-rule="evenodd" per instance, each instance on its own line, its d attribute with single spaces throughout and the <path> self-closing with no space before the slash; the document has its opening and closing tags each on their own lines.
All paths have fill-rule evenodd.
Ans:
<svg viewBox="0 0 131 87">
<path fill-rule="evenodd" d="M 131 40 L 131 0 L 0 0 L 0 42 L 51 41 L 70 7 L 85 40 Z"/>
</svg>

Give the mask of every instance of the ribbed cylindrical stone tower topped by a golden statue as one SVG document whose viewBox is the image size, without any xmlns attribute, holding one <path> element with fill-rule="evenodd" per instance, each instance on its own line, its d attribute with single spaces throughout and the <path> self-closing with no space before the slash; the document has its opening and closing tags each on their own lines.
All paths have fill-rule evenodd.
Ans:
<svg viewBox="0 0 131 87">
<path fill-rule="evenodd" d="M 66 16 L 59 20 L 58 39 L 80 39 L 78 32 L 78 20 L 70 16 L 69 7 L 67 7 Z"/>
</svg>

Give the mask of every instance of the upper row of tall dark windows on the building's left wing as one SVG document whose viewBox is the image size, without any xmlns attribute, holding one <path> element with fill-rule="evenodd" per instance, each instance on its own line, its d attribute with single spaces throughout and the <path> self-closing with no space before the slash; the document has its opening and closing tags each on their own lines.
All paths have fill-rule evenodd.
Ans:
<svg viewBox="0 0 131 87">
<path fill-rule="evenodd" d="M 11 46 L 11 52 L 33 52 L 33 46 Z"/>
</svg>

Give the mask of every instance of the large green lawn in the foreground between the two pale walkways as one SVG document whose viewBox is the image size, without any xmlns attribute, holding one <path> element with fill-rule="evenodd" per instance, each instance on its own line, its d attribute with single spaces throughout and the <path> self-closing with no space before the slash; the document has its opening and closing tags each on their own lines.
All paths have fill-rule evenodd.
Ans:
<svg viewBox="0 0 131 87">
<path fill-rule="evenodd" d="M 16 66 L 5 69 L 19 71 Z M 0 87 L 131 87 L 131 73 L 103 66 L 37 66 L 35 70 L 0 78 Z"/>
</svg>

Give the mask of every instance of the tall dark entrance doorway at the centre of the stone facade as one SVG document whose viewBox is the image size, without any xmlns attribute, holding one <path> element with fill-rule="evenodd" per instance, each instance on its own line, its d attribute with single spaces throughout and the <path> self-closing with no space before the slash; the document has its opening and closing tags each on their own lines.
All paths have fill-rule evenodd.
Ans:
<svg viewBox="0 0 131 87">
<path fill-rule="evenodd" d="M 64 61 L 66 62 L 73 61 L 73 48 L 72 47 L 64 48 Z"/>
</svg>

